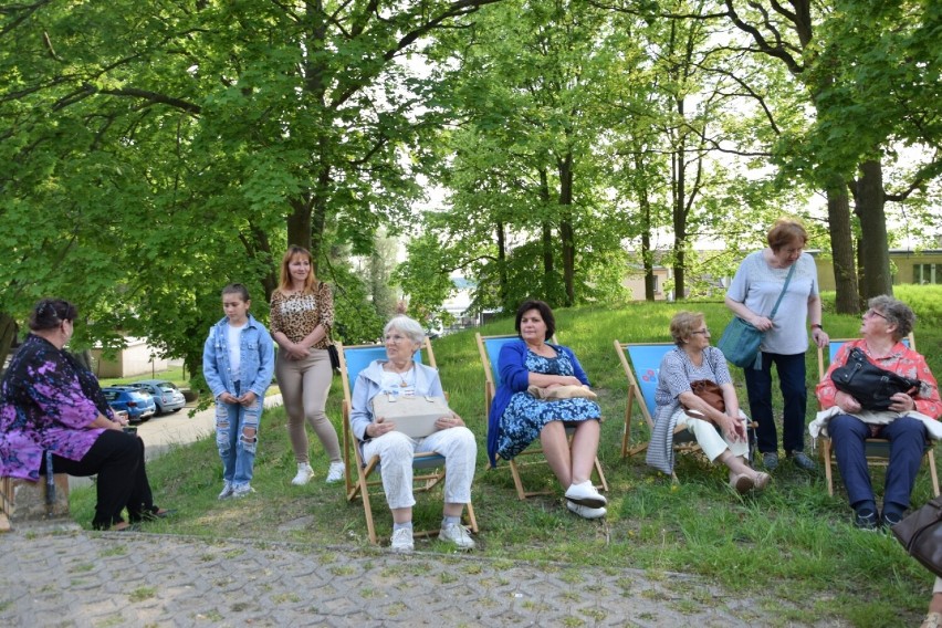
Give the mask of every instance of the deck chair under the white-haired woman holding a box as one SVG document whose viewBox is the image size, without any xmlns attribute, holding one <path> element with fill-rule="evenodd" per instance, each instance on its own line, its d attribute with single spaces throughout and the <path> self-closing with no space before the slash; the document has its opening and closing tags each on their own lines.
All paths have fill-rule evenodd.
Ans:
<svg viewBox="0 0 942 628">
<path fill-rule="evenodd" d="M 354 354 L 352 353 L 348 355 L 347 352 L 363 352 L 362 355 L 357 356 L 359 368 L 357 368 L 355 375 L 359 375 L 363 367 L 368 365 L 370 362 L 374 359 L 384 359 L 386 357 L 386 347 L 385 345 L 344 346 L 337 343 L 337 353 L 341 358 L 341 380 L 343 381 L 344 387 L 342 411 L 344 422 L 344 481 L 346 483 L 347 501 L 352 502 L 357 498 L 360 499 L 363 502 L 364 516 L 366 517 L 366 530 L 369 536 L 369 542 L 376 544 L 376 524 L 373 520 L 370 491 L 373 491 L 373 494 L 379 494 L 383 498 L 384 503 L 386 501 L 386 495 L 383 492 L 383 480 L 379 478 L 373 479 L 373 473 L 380 463 L 379 457 L 374 456 L 369 460 L 364 460 L 359 442 L 350 428 L 350 410 L 353 404 L 352 394 L 353 385 L 356 383 L 356 377 L 354 377 L 353 381 L 350 381 L 347 362 Z M 425 344 L 416 353 L 417 362 L 421 362 L 421 354 L 425 353 L 428 359 L 428 366 L 437 368 L 435 353 L 432 353 L 431 343 L 428 338 L 425 339 Z M 367 356 L 369 359 L 365 362 L 359 359 L 366 358 Z M 444 481 L 444 457 L 438 453 L 416 453 L 412 460 L 412 468 L 416 470 L 416 473 L 412 475 L 414 492 L 421 493 L 430 491 Z M 379 488 L 378 491 L 376 490 L 377 486 Z M 471 502 L 468 502 L 464 506 L 464 517 L 471 531 L 477 534 L 478 520 L 474 516 L 474 506 Z M 436 536 L 438 532 L 438 528 L 435 528 L 414 532 L 412 535 L 417 537 Z"/>
</svg>

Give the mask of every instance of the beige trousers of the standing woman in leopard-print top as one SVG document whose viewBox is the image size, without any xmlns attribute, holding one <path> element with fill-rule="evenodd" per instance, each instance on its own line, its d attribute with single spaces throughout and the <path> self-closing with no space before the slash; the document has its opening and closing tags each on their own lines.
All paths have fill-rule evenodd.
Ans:
<svg viewBox="0 0 942 628">
<path fill-rule="evenodd" d="M 310 461 L 307 431 L 304 429 L 304 420 L 307 419 L 314 433 L 321 439 L 327 458 L 331 462 L 339 462 L 342 458 L 337 430 L 324 412 L 334 377 L 327 349 L 311 349 L 304 359 L 287 359 L 286 352 L 278 352 L 275 377 L 281 398 L 284 400 L 284 409 L 287 411 L 287 436 L 291 438 L 294 459 L 299 463 Z"/>
</svg>

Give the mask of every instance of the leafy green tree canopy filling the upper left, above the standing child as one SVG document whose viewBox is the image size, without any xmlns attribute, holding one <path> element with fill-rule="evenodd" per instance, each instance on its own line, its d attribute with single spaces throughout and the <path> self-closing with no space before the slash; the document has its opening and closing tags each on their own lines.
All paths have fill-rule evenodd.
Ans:
<svg viewBox="0 0 942 628">
<path fill-rule="evenodd" d="M 317 262 L 328 233 L 368 252 L 376 228 L 421 193 L 439 124 L 419 107 L 432 83 L 400 56 L 492 1 L 3 8 L 0 216 L 15 224 L 0 249 L 13 286 L 3 310 L 21 316 L 55 292 L 97 320 L 119 307 L 125 329 L 189 353 L 143 313 L 169 308 L 198 336 L 210 306 L 195 293 L 236 275 L 268 294 L 285 242 Z M 61 220 L 32 229 L 53 211 Z M 93 279 L 50 280 L 57 264 Z"/>
</svg>

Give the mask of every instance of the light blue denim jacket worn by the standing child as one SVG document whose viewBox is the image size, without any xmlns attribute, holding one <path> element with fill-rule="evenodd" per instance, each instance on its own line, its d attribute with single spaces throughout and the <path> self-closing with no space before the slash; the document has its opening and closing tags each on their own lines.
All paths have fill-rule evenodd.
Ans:
<svg viewBox="0 0 942 628">
<path fill-rule="evenodd" d="M 229 367 L 229 318 L 222 317 L 209 328 L 209 337 L 202 347 L 202 375 L 213 398 L 223 393 L 234 394 L 233 381 L 239 381 L 244 395 L 249 390 L 260 399 L 272 381 L 274 373 L 274 344 L 265 326 L 249 314 L 249 322 L 240 337 L 240 373 L 232 374 Z"/>
</svg>

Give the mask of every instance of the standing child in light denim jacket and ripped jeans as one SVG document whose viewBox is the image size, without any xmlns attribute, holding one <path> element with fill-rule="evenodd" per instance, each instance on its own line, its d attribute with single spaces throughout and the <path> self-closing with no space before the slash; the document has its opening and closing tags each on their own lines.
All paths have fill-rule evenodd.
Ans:
<svg viewBox="0 0 942 628">
<path fill-rule="evenodd" d="M 264 325 L 249 314 L 252 302 L 241 283 L 222 289 L 226 316 L 210 327 L 202 373 L 216 399 L 216 444 L 222 459 L 219 499 L 253 493 L 252 469 L 265 389 L 274 371 L 274 345 Z"/>
</svg>

